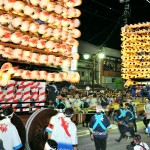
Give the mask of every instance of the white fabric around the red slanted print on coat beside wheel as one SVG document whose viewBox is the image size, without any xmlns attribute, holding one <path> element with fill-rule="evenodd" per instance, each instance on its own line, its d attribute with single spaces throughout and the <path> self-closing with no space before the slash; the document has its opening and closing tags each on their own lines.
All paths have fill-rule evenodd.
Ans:
<svg viewBox="0 0 150 150">
<path fill-rule="evenodd" d="M 64 128 L 62 127 L 61 117 L 64 118 L 68 125 L 68 132 L 71 135 L 70 137 L 66 134 Z M 70 118 L 65 117 L 64 114 L 59 113 L 51 118 L 50 124 L 54 126 L 51 139 L 55 140 L 57 143 L 61 142 L 71 145 L 76 145 L 78 143 L 77 127 Z"/>
</svg>

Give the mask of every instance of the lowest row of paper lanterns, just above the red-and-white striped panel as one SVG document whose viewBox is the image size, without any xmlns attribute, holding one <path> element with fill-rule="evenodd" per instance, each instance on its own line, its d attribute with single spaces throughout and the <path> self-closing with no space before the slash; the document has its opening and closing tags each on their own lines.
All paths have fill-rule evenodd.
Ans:
<svg viewBox="0 0 150 150">
<path fill-rule="evenodd" d="M 65 80 L 71 83 L 77 83 L 80 81 L 78 72 L 66 71 L 49 73 L 44 70 L 30 71 L 13 67 L 12 64 L 8 62 L 4 63 L 0 69 L 0 85 L 6 86 L 12 75 L 27 80 L 46 80 L 48 82 L 61 82 Z"/>
</svg>

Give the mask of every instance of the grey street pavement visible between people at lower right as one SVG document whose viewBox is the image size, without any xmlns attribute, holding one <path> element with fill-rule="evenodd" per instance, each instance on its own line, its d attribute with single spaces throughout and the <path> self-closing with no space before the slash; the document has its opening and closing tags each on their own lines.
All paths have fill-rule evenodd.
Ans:
<svg viewBox="0 0 150 150">
<path fill-rule="evenodd" d="M 89 130 L 87 127 L 82 127 L 81 124 L 77 125 L 78 128 L 78 148 L 80 150 L 95 150 L 94 142 L 91 141 Z M 142 141 L 146 142 L 150 146 L 150 136 L 145 134 L 145 126 L 142 120 L 137 121 L 137 134 L 140 134 L 142 137 Z M 108 139 L 107 139 L 107 150 L 126 150 L 126 146 L 130 144 L 133 140 L 129 138 L 122 139 L 120 143 L 116 142 L 115 139 L 119 137 L 119 131 L 117 125 L 112 124 L 112 128 L 108 130 Z"/>
</svg>

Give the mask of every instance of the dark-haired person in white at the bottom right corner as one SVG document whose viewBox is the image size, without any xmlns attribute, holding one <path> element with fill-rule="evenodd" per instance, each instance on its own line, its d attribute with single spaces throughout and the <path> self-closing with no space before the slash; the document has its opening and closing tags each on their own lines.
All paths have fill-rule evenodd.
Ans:
<svg viewBox="0 0 150 150">
<path fill-rule="evenodd" d="M 149 146 L 141 141 L 141 136 L 136 134 L 130 145 L 127 145 L 127 150 L 149 150 Z"/>
</svg>

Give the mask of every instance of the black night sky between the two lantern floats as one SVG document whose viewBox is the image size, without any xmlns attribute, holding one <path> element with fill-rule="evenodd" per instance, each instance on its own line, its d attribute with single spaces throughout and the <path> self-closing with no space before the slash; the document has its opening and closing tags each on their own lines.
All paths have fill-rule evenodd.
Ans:
<svg viewBox="0 0 150 150">
<path fill-rule="evenodd" d="M 150 0 L 82 0 L 79 40 L 120 50 L 121 27 L 150 22 Z M 123 1 L 123 0 L 122 0 Z"/>
</svg>

